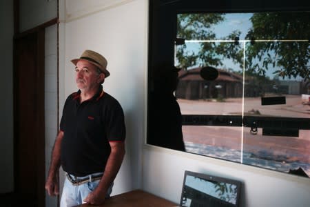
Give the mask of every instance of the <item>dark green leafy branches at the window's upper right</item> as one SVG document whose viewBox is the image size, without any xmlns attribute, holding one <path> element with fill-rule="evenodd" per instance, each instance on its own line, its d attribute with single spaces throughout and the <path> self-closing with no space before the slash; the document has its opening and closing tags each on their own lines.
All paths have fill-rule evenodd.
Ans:
<svg viewBox="0 0 310 207">
<path fill-rule="evenodd" d="M 273 67 L 277 68 L 274 73 L 279 77 L 300 76 L 309 80 L 309 19 L 310 12 L 254 13 L 251 17 L 253 28 L 247 32 L 246 39 L 274 41 L 260 41 L 249 45 L 245 68 L 265 75 Z"/>
</svg>

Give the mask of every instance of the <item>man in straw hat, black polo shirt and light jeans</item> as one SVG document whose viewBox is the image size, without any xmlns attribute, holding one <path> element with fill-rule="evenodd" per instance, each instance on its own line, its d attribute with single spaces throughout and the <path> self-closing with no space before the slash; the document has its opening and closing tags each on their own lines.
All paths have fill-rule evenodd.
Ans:
<svg viewBox="0 0 310 207">
<path fill-rule="evenodd" d="M 59 194 L 57 172 L 66 172 L 61 207 L 103 204 L 125 155 L 125 121 L 116 99 L 103 91 L 110 75 L 105 57 L 85 50 L 73 59 L 77 92 L 65 101 L 45 189 Z"/>
</svg>

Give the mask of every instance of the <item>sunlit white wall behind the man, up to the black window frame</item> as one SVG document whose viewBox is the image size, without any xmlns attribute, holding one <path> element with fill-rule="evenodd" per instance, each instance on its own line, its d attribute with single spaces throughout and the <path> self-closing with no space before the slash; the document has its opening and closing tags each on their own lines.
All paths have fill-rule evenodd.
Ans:
<svg viewBox="0 0 310 207">
<path fill-rule="evenodd" d="M 96 2 L 100 8 L 101 1 Z M 74 4 L 67 1 L 66 8 L 76 6 L 70 3 Z M 118 99 L 125 112 L 126 155 L 112 195 L 142 188 L 147 72 L 146 7 L 146 1 L 137 0 L 124 1 L 115 7 L 102 7 L 97 12 L 84 11 L 81 17 L 78 15 L 74 19 L 67 19 L 64 31 L 61 31 L 61 35 L 64 34 L 65 37 L 65 46 L 62 48 L 65 58 L 60 68 L 65 84 L 61 88 L 64 91 L 61 99 L 64 101 L 65 97 L 77 90 L 74 65 L 70 59 L 80 57 L 85 49 L 95 50 L 107 58 L 107 69 L 111 73 L 103 83 L 103 90 Z"/>
</svg>

